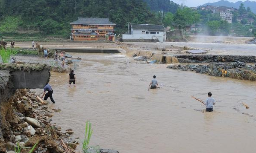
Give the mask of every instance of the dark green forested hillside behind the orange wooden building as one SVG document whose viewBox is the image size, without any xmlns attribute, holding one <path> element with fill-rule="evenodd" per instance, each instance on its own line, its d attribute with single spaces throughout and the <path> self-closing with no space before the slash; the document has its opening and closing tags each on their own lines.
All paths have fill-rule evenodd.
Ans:
<svg viewBox="0 0 256 153">
<path fill-rule="evenodd" d="M 162 22 L 143 0 L 0 0 L 2 34 L 29 30 L 68 36 L 69 23 L 77 17 L 109 17 L 118 33 L 126 31 L 128 22 Z"/>
</svg>

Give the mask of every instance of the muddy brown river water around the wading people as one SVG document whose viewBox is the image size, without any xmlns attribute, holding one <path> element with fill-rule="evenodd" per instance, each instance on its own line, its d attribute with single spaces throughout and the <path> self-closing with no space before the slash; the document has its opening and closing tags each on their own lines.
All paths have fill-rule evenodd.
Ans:
<svg viewBox="0 0 256 153">
<path fill-rule="evenodd" d="M 68 87 L 68 74 L 51 72 L 50 105 L 62 110 L 53 123 L 72 128 L 73 139 L 82 142 L 88 120 L 91 145 L 120 153 L 255 153 L 256 82 L 136 64 L 124 55 L 72 55 L 83 59 L 77 87 Z M 160 89 L 147 91 L 153 75 Z M 191 98 L 205 100 L 207 92 L 217 101 L 212 113 Z"/>
</svg>

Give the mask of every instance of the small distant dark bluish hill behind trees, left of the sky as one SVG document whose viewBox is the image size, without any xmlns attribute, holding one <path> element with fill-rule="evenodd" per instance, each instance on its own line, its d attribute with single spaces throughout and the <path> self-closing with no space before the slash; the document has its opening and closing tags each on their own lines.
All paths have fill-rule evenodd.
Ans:
<svg viewBox="0 0 256 153">
<path fill-rule="evenodd" d="M 179 5 L 170 0 L 144 0 L 152 11 L 164 11 L 176 13 Z"/>
</svg>

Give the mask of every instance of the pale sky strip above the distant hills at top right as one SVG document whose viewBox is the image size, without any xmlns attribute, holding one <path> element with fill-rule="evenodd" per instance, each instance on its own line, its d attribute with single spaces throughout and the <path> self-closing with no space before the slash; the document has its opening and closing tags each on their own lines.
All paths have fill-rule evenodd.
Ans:
<svg viewBox="0 0 256 153">
<path fill-rule="evenodd" d="M 177 4 L 182 3 L 182 1 L 180 1 L 180 0 L 172 0 L 172 1 L 174 1 Z M 213 3 L 213 2 L 218 2 L 218 1 L 220 1 L 220 0 L 187 0 L 187 1 L 185 1 L 185 5 L 189 6 L 189 7 L 195 7 L 195 6 L 203 5 L 205 3 Z M 228 1 L 235 3 L 239 0 L 228 0 Z M 244 2 L 245 0 L 241 0 L 241 1 Z M 250 0 L 250 1 L 256 1 L 256 0 Z"/>
</svg>

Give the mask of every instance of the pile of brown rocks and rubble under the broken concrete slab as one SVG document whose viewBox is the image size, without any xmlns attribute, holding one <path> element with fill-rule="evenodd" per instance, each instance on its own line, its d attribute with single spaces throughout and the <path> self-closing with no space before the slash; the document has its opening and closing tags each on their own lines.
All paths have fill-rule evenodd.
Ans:
<svg viewBox="0 0 256 153">
<path fill-rule="evenodd" d="M 0 153 L 11 153 L 18 146 L 27 152 L 25 147 L 32 147 L 37 142 L 35 153 L 65 153 L 60 142 L 62 139 L 70 139 L 74 132 L 68 129 L 62 133 L 61 127 L 51 124 L 53 114 L 61 110 L 50 110 L 35 97 L 33 92 L 26 89 L 19 89 L 15 93 L 12 105 L 6 108 L 12 112 L 6 116 L 6 124 L 9 126 L 3 126 L 5 129 L 3 139 L 0 140 Z M 75 149 L 78 140 L 67 143 L 72 143 L 71 148 Z"/>
</svg>

